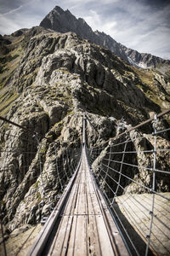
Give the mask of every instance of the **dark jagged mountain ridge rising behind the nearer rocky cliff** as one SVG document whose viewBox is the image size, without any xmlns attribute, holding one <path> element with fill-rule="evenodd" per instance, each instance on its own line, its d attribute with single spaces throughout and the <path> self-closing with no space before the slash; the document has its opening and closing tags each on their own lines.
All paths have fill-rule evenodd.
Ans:
<svg viewBox="0 0 170 256">
<path fill-rule="evenodd" d="M 117 43 L 105 32 L 95 31 L 88 26 L 82 18 L 77 19 L 67 9 L 64 11 L 56 6 L 40 23 L 40 26 L 53 29 L 56 32 L 76 32 L 81 38 L 85 38 L 99 44 L 102 47 L 110 49 L 112 53 L 128 61 L 136 67 L 156 68 L 159 72 L 169 75 L 170 61 L 163 60 L 154 55 L 139 53 L 137 50 L 129 49 L 126 46 Z"/>
</svg>

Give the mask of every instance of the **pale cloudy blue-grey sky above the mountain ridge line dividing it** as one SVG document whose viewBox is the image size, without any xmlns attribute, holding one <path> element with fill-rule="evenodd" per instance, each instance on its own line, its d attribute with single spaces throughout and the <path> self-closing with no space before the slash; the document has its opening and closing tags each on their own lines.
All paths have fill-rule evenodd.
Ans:
<svg viewBox="0 0 170 256">
<path fill-rule="evenodd" d="M 170 60 L 170 0 L 0 0 L 0 34 L 39 26 L 56 5 L 118 43 Z"/>
</svg>

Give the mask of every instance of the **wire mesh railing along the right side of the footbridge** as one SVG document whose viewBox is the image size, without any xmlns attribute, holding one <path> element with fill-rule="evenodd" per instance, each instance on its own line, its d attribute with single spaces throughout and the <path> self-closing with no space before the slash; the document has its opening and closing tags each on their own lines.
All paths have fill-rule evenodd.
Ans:
<svg viewBox="0 0 170 256">
<path fill-rule="evenodd" d="M 133 255 L 170 254 L 170 128 L 159 117 L 88 149 L 95 181 Z M 152 133 L 138 130 L 148 124 Z"/>
</svg>

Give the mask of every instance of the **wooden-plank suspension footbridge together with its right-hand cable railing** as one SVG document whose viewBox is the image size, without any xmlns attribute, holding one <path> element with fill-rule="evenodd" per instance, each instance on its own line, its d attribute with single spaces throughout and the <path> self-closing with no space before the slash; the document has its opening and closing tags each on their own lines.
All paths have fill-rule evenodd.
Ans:
<svg viewBox="0 0 170 256">
<path fill-rule="evenodd" d="M 170 145 L 164 137 L 170 129 L 159 130 L 157 125 L 157 120 L 169 112 L 160 113 L 95 148 L 87 147 L 87 120 L 83 114 L 80 160 L 70 177 L 65 170 L 64 178 L 56 162 L 59 183 L 65 189 L 27 255 L 170 253 L 170 195 L 157 188 L 160 177 L 165 188 L 169 185 L 169 166 L 160 166 L 157 160 L 163 155 L 167 162 L 169 159 Z M 131 132 L 150 122 L 154 123 L 154 132 L 138 133 L 133 139 Z M 11 122 L 11 125 L 16 124 Z M 144 142 L 146 137 L 152 147 L 144 148 L 142 143 L 143 148 L 135 150 L 135 140 Z M 144 161 L 136 162 L 139 154 L 143 158 L 147 154 L 150 163 L 144 166 Z M 68 156 L 65 158 L 71 167 Z M 139 170 L 150 175 L 150 183 L 139 181 Z M 62 185 L 62 179 L 68 182 L 66 186 Z M 132 184 L 140 195 L 126 191 Z"/>
</svg>

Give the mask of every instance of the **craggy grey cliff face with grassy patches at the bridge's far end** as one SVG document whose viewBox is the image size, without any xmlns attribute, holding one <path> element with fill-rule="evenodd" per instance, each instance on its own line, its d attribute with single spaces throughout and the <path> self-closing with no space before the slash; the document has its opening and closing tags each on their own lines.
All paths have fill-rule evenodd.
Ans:
<svg viewBox="0 0 170 256">
<path fill-rule="evenodd" d="M 114 137 L 122 117 L 125 129 L 170 101 L 163 75 L 136 69 L 62 27 L 61 32 L 33 27 L 1 38 L 1 115 L 38 135 L 36 140 L 19 127 L 0 124 L 0 200 L 8 230 L 38 222 L 58 200 L 55 161 L 63 163 L 61 177 L 70 175 L 67 152 L 81 145 L 84 110 L 94 127 L 88 123 L 90 147 Z M 167 121 L 162 124 L 167 127 Z"/>
</svg>

